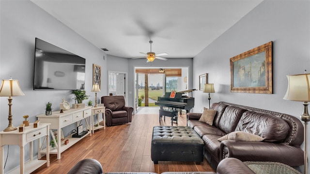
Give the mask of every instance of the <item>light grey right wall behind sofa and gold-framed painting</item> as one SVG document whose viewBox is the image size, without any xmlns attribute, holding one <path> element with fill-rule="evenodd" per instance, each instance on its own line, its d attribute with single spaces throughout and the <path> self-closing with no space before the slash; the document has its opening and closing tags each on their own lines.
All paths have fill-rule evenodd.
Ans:
<svg viewBox="0 0 310 174">
<path fill-rule="evenodd" d="M 269 41 L 273 41 L 273 94 L 230 92 L 230 58 Z M 193 58 L 193 87 L 199 87 L 200 74 L 209 73 L 209 83 L 215 84 L 216 91 L 211 94 L 211 103 L 232 102 L 299 118 L 302 102 L 282 99 L 287 89 L 286 75 L 304 70 L 309 73 L 309 65 L 310 1 L 264 0 Z M 194 97 L 194 111 L 201 112 L 208 105 L 208 96 L 196 91 Z"/>
</svg>

